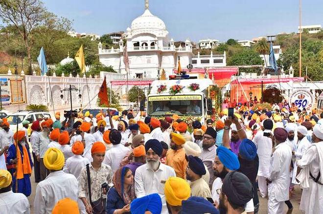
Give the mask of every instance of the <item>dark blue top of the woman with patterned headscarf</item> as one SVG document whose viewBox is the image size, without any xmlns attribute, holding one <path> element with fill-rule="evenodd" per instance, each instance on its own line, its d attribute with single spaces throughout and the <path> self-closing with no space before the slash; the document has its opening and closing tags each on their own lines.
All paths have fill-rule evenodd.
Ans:
<svg viewBox="0 0 323 214">
<path fill-rule="evenodd" d="M 126 204 L 121 199 L 121 196 L 116 192 L 114 187 L 111 187 L 109 193 L 107 194 L 107 203 L 106 203 L 106 214 L 113 214 L 115 210 L 122 209 Z M 130 214 L 130 213 L 124 213 Z"/>
</svg>

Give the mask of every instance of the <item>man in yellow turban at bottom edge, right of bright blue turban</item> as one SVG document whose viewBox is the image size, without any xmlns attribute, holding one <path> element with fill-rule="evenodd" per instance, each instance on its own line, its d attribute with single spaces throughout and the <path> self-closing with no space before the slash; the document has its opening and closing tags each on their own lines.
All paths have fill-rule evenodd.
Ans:
<svg viewBox="0 0 323 214">
<path fill-rule="evenodd" d="M 191 195 L 191 188 L 187 181 L 179 177 L 170 177 L 165 183 L 165 198 L 171 213 L 179 213 L 182 209 L 182 201 Z"/>
</svg>

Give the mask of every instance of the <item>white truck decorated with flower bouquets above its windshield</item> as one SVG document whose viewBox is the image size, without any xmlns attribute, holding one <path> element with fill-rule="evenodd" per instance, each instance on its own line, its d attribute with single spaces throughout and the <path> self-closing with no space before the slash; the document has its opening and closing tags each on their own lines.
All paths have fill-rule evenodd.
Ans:
<svg viewBox="0 0 323 214">
<path fill-rule="evenodd" d="M 212 85 L 212 80 L 198 79 L 198 75 L 171 75 L 169 80 L 156 80 L 147 96 L 147 114 L 150 117 L 177 114 L 188 123 L 199 120 L 204 124 L 212 111 L 208 97 Z"/>
</svg>

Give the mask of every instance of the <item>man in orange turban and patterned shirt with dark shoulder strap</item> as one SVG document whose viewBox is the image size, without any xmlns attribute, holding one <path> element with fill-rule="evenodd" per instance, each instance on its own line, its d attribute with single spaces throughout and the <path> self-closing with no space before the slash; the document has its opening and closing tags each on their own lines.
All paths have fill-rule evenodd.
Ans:
<svg viewBox="0 0 323 214">
<path fill-rule="evenodd" d="M 95 142 L 92 145 L 91 149 L 93 161 L 89 164 L 89 167 L 84 167 L 79 176 L 79 195 L 78 197 L 82 200 L 87 213 L 91 213 L 91 204 L 89 201 L 88 193 L 88 179 L 87 179 L 87 168 L 91 175 L 91 180 L 95 182 L 91 185 L 93 190 L 100 190 L 92 192 L 93 198 L 102 197 L 102 188 L 101 185 L 105 182 L 109 183 L 112 181 L 113 172 L 111 167 L 105 164 L 102 164 L 105 156 L 105 146 L 102 142 Z M 106 199 L 106 194 L 103 195 L 103 200 Z"/>
</svg>

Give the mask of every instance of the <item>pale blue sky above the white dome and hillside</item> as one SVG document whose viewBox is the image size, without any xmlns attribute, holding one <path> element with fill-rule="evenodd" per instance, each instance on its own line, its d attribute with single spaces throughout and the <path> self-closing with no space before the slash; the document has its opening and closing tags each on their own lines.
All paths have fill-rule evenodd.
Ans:
<svg viewBox="0 0 323 214">
<path fill-rule="evenodd" d="M 50 12 L 73 21 L 79 33 L 126 31 L 144 12 L 144 0 L 43 0 Z M 302 25 L 323 25 L 323 0 L 302 1 Z M 169 38 L 225 42 L 296 32 L 299 0 L 149 0 Z"/>
</svg>

